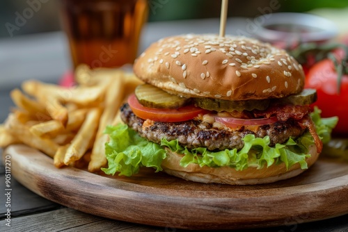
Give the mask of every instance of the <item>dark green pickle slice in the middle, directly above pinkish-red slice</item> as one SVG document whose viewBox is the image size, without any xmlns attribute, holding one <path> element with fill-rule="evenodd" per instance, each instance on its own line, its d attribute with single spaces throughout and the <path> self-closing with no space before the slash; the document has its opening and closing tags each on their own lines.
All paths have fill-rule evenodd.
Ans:
<svg viewBox="0 0 348 232">
<path fill-rule="evenodd" d="M 206 110 L 215 110 L 217 112 L 227 111 L 232 112 L 237 110 L 266 110 L 269 106 L 270 99 L 248 100 L 248 101 L 227 101 L 221 99 L 195 98 L 196 106 Z"/>
</svg>

